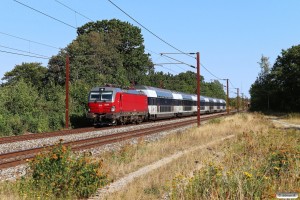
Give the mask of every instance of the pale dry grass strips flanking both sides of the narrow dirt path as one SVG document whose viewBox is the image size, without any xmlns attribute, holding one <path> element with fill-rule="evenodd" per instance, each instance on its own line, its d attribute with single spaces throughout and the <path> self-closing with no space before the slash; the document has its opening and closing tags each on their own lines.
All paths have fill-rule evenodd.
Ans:
<svg viewBox="0 0 300 200">
<path fill-rule="evenodd" d="M 191 128 L 185 132 L 170 135 L 156 143 L 143 144 L 141 149 L 132 154 L 130 162 L 120 164 L 106 158 L 110 163 L 113 175 L 120 177 L 135 171 L 141 166 L 148 165 L 163 157 L 168 157 L 179 151 L 195 146 L 201 146 L 231 134 L 238 135 L 243 132 L 268 131 L 272 126 L 263 116 L 257 114 L 238 114 L 221 120 L 212 120 L 200 128 Z M 202 163 L 211 160 L 220 162 L 224 153 L 216 149 L 216 146 L 206 150 L 192 152 L 172 163 L 155 170 L 142 178 L 138 178 L 126 187 L 126 189 L 110 194 L 106 199 L 159 199 L 170 189 L 173 178 L 178 176 L 190 176 L 191 172 L 200 168 Z M 118 170 L 121 169 L 121 172 Z"/>
</svg>

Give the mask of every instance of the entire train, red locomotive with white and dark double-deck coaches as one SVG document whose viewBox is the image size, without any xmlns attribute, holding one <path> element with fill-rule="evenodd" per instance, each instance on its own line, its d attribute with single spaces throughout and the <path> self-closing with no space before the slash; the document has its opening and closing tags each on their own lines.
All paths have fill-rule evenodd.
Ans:
<svg viewBox="0 0 300 200">
<path fill-rule="evenodd" d="M 200 114 L 224 112 L 224 99 L 200 96 Z M 141 123 L 197 115 L 197 95 L 151 86 L 133 89 L 94 87 L 88 95 L 87 117 L 95 126 Z"/>
</svg>

